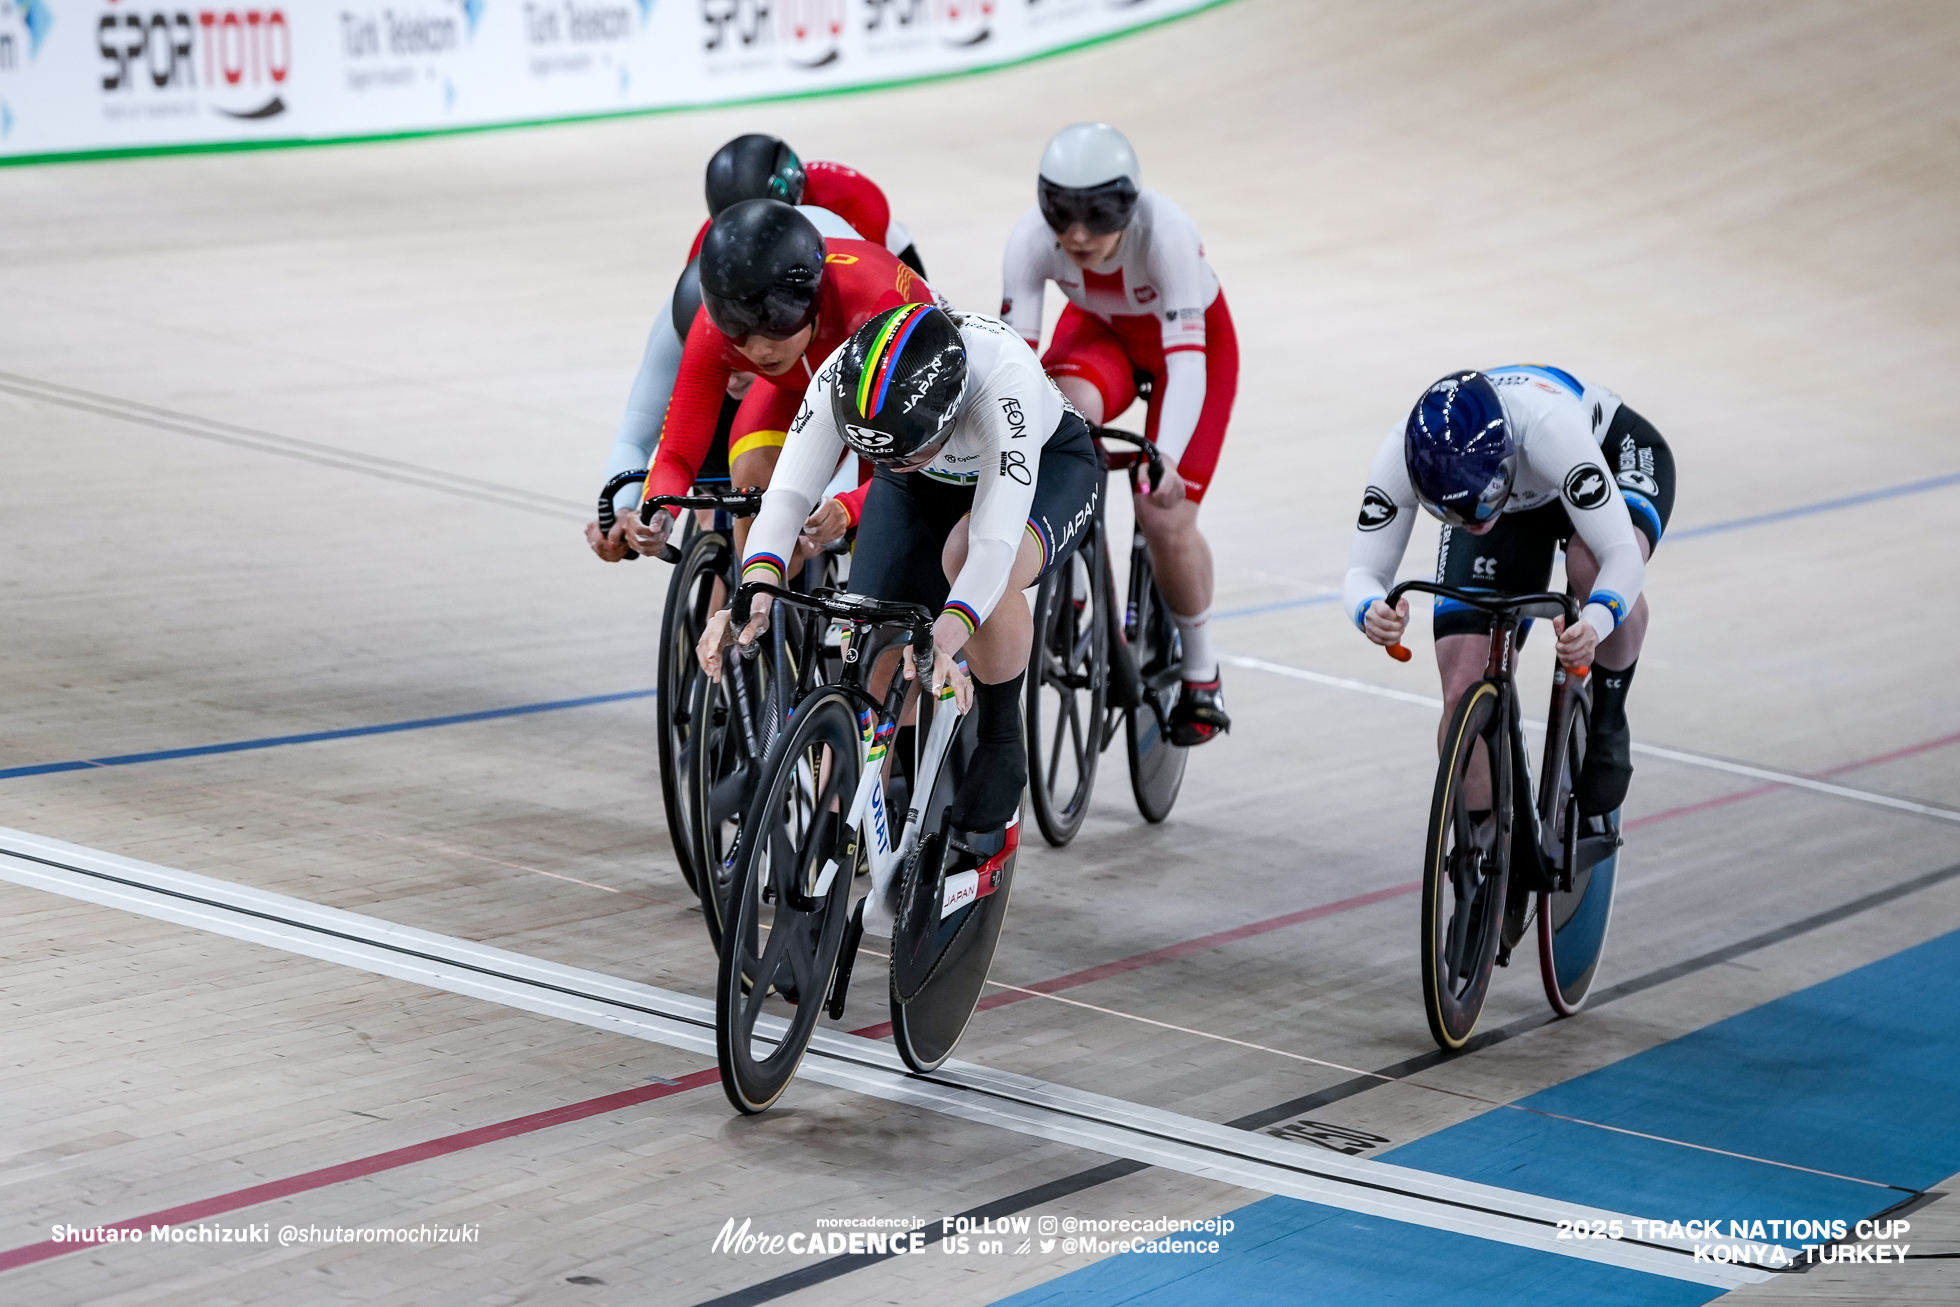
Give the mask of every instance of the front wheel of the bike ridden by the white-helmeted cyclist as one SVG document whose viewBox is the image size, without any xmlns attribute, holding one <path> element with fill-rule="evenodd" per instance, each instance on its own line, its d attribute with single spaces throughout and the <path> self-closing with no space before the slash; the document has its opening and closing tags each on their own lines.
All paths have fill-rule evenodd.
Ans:
<svg viewBox="0 0 1960 1307">
<path fill-rule="evenodd" d="M 1035 594 L 1033 676 L 1027 678 L 1027 788 L 1041 837 L 1060 848 L 1082 829 L 1096 790 L 1109 692 L 1109 615 L 1102 535 Z"/>
</svg>

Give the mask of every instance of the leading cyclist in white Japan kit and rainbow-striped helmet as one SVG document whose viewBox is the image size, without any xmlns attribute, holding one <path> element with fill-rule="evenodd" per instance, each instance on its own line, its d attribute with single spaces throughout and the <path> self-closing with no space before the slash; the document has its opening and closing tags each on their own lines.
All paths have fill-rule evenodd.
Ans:
<svg viewBox="0 0 1960 1307">
<path fill-rule="evenodd" d="M 939 609 L 933 684 L 976 703 L 978 750 L 953 823 L 988 831 L 1027 782 L 1021 678 L 1033 619 L 1021 594 L 1060 566 L 1096 515 L 1102 464 L 1088 423 L 1005 323 L 906 304 L 866 321 L 817 370 L 743 553 L 778 582 L 845 447 L 878 464 L 851 555 L 851 590 Z M 766 627 L 766 604 L 741 639 Z M 727 613 L 702 662 L 719 674 Z M 966 656 L 968 692 L 953 658 Z"/>
</svg>

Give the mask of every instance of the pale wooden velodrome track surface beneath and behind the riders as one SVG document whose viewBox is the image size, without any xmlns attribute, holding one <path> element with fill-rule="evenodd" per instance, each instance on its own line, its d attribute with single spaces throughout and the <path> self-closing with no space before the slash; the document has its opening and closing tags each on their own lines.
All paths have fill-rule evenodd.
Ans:
<svg viewBox="0 0 1960 1307">
<path fill-rule="evenodd" d="M 1952 1254 L 1960 1201 L 1913 1195 L 1960 1184 L 1938 1115 L 1960 1019 L 1887 1023 L 1952 997 L 1936 962 L 1960 929 L 1956 57 L 1938 4 L 1243 0 L 866 96 L 0 170 L 0 1301 L 1960 1299 L 1942 1258 L 1690 1282 L 1354 1207 L 1184 1289 L 1123 1282 L 1139 1258 L 1015 1254 L 1019 1234 L 1004 1256 L 711 1252 L 731 1217 L 1305 1205 L 958 1095 L 811 1080 L 735 1119 L 711 1050 L 237 939 L 218 909 L 80 901 L 20 856 L 86 860 L 27 837 L 67 841 L 710 993 L 651 702 L 564 705 L 653 682 L 666 570 L 598 564 L 580 523 L 702 161 L 766 129 L 870 172 L 935 286 L 990 308 L 1041 143 L 1105 118 L 1196 216 L 1239 321 L 1203 517 L 1237 729 L 1166 825 L 1139 821 L 1111 754 L 1078 843 L 1023 854 L 994 972 L 1017 988 L 960 1056 L 1192 1138 L 1343 1127 L 1380 1140 L 1364 1158 L 1407 1144 L 1407 1166 L 1633 1215 L 1809 1217 L 1837 1199 L 1778 1184 L 1850 1172 L 1893 1189 L 1866 1211 L 1913 1207 L 1915 1254 Z M 1446 368 L 1519 359 L 1611 384 L 1676 451 L 1631 715 L 1680 756 L 1637 758 L 1611 1001 L 1544 1025 L 1527 958 L 1484 1017 L 1513 1037 L 1439 1062 L 1409 892 L 1427 623 L 1396 666 L 1327 596 L 1388 423 Z M 1433 545 L 1419 531 L 1409 574 Z M 517 705 L 543 707 L 492 711 Z M 368 729 L 388 723 L 419 725 Z M 204 749 L 310 733 L 347 735 Z M 96 762 L 43 766 L 65 760 Z M 882 986 L 866 958 L 845 1031 L 884 1019 Z M 1805 992 L 1862 997 L 1803 1019 Z M 1690 1176 L 1682 1201 L 1535 1172 L 1531 1131 L 1462 1133 L 1592 1072 L 1631 1084 L 1613 1076 L 1654 1066 L 1637 1054 L 1686 1068 L 1641 1082 L 1674 1125 L 1629 1117 L 1662 1137 L 1639 1158 L 1593 1129 L 1592 1170 Z M 1870 1086 L 1837 1086 L 1852 1064 Z M 1437 1142 L 1456 1138 L 1476 1146 Z M 1711 1156 L 1756 1170 L 1693 1180 Z M 57 1225 L 157 1213 L 478 1242 L 49 1254 Z"/>
</svg>

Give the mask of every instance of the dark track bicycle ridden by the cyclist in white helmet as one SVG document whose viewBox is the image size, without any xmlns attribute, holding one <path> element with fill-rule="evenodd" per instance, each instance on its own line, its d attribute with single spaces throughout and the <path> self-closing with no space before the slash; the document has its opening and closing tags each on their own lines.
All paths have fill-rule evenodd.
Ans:
<svg viewBox="0 0 1960 1307">
<path fill-rule="evenodd" d="M 1133 449 L 1107 451 L 1105 443 Z M 1109 470 L 1129 472 L 1137 492 L 1149 468 L 1154 486 L 1164 474 L 1156 445 L 1111 427 L 1096 429 L 1096 447 Z M 1117 727 L 1129 752 L 1129 786 L 1137 811 L 1156 823 L 1170 815 L 1184 786 L 1188 749 L 1170 743 L 1170 709 L 1178 703 L 1180 643 L 1170 605 L 1156 588 L 1151 549 L 1141 529 L 1129 545 L 1129 592 L 1115 607 L 1115 570 L 1105 519 L 1107 496 L 1076 555 L 1054 568 L 1035 594 L 1035 649 L 1027 678 L 1027 786 L 1035 823 L 1051 845 L 1066 845 L 1082 829 L 1102 752 Z"/>
</svg>

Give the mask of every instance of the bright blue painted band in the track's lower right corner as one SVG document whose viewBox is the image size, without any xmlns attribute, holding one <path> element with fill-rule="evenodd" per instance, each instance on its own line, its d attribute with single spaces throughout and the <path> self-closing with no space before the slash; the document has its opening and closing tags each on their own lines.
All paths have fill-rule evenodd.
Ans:
<svg viewBox="0 0 1960 1307">
<path fill-rule="evenodd" d="M 1788 1166 L 1503 1109 L 1378 1156 L 1641 1219 L 1713 1219 L 1725 1231 L 1729 1221 L 1758 1219 L 1852 1225 L 1960 1172 L 1954 1011 L 1960 1011 L 1960 931 L 1519 1099 L 1544 1113 Z M 1797 1166 L 1895 1187 L 1791 1170 Z M 1237 1229 L 1219 1240 L 1217 1254 L 1111 1256 L 1004 1301 L 1013 1307 L 1298 1301 L 1686 1307 L 1719 1297 L 1717 1289 L 1678 1280 L 1298 1199 L 1270 1197 L 1227 1215 Z"/>
</svg>

